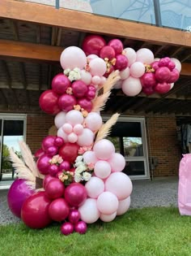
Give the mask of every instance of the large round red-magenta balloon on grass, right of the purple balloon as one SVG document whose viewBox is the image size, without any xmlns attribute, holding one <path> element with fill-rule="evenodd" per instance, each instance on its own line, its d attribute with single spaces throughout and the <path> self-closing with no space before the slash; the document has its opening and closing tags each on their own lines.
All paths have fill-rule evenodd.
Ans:
<svg viewBox="0 0 191 256">
<path fill-rule="evenodd" d="M 49 217 L 50 200 L 45 192 L 41 191 L 32 194 L 23 203 L 21 209 L 21 218 L 29 228 L 45 228 L 51 223 Z"/>
</svg>

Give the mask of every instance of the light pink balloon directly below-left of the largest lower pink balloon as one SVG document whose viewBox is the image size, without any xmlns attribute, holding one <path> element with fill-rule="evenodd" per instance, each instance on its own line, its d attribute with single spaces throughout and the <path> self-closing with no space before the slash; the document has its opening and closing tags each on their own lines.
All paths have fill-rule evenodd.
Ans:
<svg viewBox="0 0 191 256">
<path fill-rule="evenodd" d="M 119 201 L 117 196 L 111 192 L 103 192 L 97 198 L 97 208 L 100 210 L 101 214 L 112 215 L 117 211 L 119 206 Z"/>
</svg>

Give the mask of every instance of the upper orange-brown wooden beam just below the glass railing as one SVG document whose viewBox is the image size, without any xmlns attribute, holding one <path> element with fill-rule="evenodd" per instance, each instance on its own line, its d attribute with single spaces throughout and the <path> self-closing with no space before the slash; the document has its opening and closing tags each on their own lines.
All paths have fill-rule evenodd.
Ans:
<svg viewBox="0 0 191 256">
<path fill-rule="evenodd" d="M 0 17 L 69 28 L 87 33 L 100 33 L 138 41 L 149 41 L 157 45 L 191 47 L 190 33 L 148 24 L 138 24 L 128 20 L 116 20 L 83 11 L 65 8 L 56 9 L 55 7 L 32 2 L 3 0 L 1 1 Z"/>
</svg>

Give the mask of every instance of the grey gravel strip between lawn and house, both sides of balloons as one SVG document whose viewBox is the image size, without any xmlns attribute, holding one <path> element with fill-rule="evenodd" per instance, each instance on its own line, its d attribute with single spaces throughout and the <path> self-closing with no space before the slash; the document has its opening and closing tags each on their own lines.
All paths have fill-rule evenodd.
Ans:
<svg viewBox="0 0 191 256">
<path fill-rule="evenodd" d="M 178 178 L 160 178 L 151 180 L 133 180 L 130 208 L 149 206 L 177 206 Z M 19 223 L 12 215 L 6 202 L 8 190 L 0 190 L 0 225 Z"/>
</svg>

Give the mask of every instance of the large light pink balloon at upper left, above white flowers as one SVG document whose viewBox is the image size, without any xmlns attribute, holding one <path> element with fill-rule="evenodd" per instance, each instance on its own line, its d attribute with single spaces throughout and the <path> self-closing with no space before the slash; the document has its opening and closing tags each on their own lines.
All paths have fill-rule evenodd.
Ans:
<svg viewBox="0 0 191 256">
<path fill-rule="evenodd" d="M 83 69 L 87 64 L 87 57 L 79 47 L 70 46 L 62 51 L 60 62 L 63 69 L 70 68 L 73 70 L 74 67 Z"/>
</svg>

